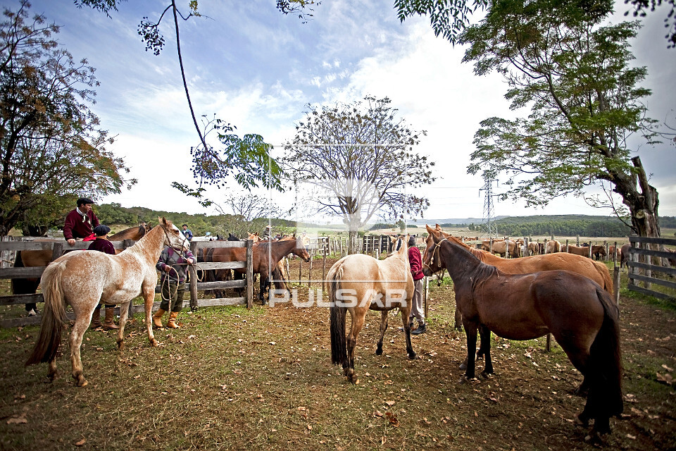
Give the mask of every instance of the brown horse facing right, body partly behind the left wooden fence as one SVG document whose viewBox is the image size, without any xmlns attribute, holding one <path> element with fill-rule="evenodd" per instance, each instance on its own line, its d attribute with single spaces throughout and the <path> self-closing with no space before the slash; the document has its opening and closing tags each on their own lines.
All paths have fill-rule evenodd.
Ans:
<svg viewBox="0 0 676 451">
<path fill-rule="evenodd" d="M 258 298 L 261 301 L 265 298 L 265 290 L 270 286 L 270 273 L 277 267 L 282 257 L 288 254 L 294 254 L 301 257 L 303 261 L 310 261 L 310 254 L 303 246 L 301 240 L 292 238 L 290 240 L 280 241 L 261 241 L 253 245 L 252 266 L 253 273 L 261 275 L 261 290 L 258 292 Z M 204 249 L 205 261 L 246 261 L 246 249 L 244 247 L 218 247 L 215 249 Z M 211 258 L 209 260 L 208 258 Z M 242 278 L 246 273 L 246 268 L 234 269 L 234 278 Z M 215 280 L 218 279 L 216 273 Z"/>
</svg>

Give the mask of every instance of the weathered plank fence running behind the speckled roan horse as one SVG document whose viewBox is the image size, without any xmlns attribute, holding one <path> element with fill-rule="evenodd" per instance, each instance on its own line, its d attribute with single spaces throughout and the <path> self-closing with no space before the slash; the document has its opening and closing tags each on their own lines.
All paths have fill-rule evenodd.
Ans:
<svg viewBox="0 0 676 451">
<path fill-rule="evenodd" d="M 113 247 L 115 249 L 126 249 L 134 245 L 132 240 L 124 241 L 113 241 Z M 64 240 L 58 241 L 1 241 L 0 242 L 0 254 L 3 256 L 3 266 L 6 266 L 11 260 L 9 254 L 16 251 L 24 250 L 41 250 L 41 249 L 50 249 L 52 251 L 52 259 L 61 257 L 66 242 Z M 68 250 L 82 250 L 89 247 L 90 242 L 76 242 L 73 246 L 68 246 Z M 197 307 L 209 307 L 213 305 L 233 305 L 233 304 L 245 304 L 247 307 L 251 307 L 253 302 L 253 270 L 251 266 L 251 246 L 252 241 L 204 241 L 204 242 L 192 242 L 190 244 L 190 249 L 194 255 L 197 255 L 197 249 L 204 247 L 246 247 L 246 261 L 231 261 L 227 263 L 199 263 L 197 264 L 200 269 L 225 269 L 225 268 L 246 268 L 246 280 L 228 280 L 223 282 L 211 282 L 204 283 L 197 280 L 195 266 L 192 266 L 189 270 L 190 272 L 190 300 L 189 305 L 191 309 L 196 309 Z M 15 279 L 15 278 L 39 278 L 42 276 L 45 266 L 35 266 L 28 268 L 0 268 L 0 279 Z M 244 297 L 234 297 L 234 298 L 220 298 L 220 299 L 198 299 L 197 292 L 202 290 L 213 290 L 213 289 L 225 289 L 225 288 L 246 288 L 246 294 Z M 156 292 L 158 289 L 156 288 Z M 10 295 L 10 296 L 0 296 L 0 305 L 15 305 L 15 304 L 27 304 L 30 302 L 44 302 L 42 293 L 37 293 L 35 295 Z M 159 302 L 155 302 L 154 309 L 159 307 Z M 115 307 L 116 313 L 119 314 L 119 307 Z M 144 306 L 142 304 L 130 304 L 130 314 L 138 313 L 144 311 Z M 74 316 L 72 313 L 68 314 L 70 319 L 73 319 Z M 39 324 L 42 321 L 42 316 L 28 316 L 25 318 L 17 319 L 5 319 L 0 320 L 0 328 L 11 328 L 17 326 L 32 326 Z"/>
</svg>

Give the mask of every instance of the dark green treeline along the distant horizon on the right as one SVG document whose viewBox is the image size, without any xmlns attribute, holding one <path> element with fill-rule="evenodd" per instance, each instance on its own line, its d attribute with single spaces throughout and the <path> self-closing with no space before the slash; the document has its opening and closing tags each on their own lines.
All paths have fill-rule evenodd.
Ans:
<svg viewBox="0 0 676 451">
<path fill-rule="evenodd" d="M 560 216 L 520 216 L 501 218 L 495 221 L 498 235 L 533 236 L 555 235 L 587 237 L 622 237 L 632 233 L 618 218 L 605 216 L 560 215 Z M 660 226 L 676 228 L 676 217 L 661 216 Z M 483 232 L 486 224 L 442 224 L 442 227 L 467 227 L 470 230 Z"/>
</svg>

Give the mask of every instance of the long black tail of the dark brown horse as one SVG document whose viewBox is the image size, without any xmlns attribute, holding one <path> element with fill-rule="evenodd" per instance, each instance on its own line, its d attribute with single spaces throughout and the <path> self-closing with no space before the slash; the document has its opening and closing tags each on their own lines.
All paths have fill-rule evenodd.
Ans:
<svg viewBox="0 0 676 451">
<path fill-rule="evenodd" d="M 611 295 L 596 288 L 603 305 L 603 323 L 589 350 L 589 388 L 587 404 L 592 416 L 619 416 L 622 402 L 622 354 L 620 352 L 620 309 Z M 585 375 L 587 376 L 587 375 Z M 585 408 L 587 410 L 587 408 Z M 596 414 L 596 415 L 594 415 Z"/>
</svg>

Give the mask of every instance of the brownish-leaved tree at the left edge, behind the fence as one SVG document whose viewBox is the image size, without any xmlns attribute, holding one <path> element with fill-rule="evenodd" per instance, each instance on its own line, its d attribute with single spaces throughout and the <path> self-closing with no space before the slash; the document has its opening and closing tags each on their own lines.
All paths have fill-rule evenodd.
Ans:
<svg viewBox="0 0 676 451">
<path fill-rule="evenodd" d="M 44 230 L 78 195 L 118 193 L 128 172 L 89 109 L 98 85 L 87 61 L 73 61 L 30 4 L 4 9 L 0 23 L 0 236 L 13 226 Z"/>
</svg>

